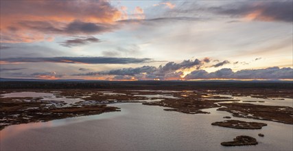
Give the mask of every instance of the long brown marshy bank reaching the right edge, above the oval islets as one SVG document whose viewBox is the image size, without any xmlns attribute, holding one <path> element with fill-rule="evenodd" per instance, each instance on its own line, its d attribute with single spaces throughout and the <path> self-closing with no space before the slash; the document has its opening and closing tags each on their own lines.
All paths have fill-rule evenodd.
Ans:
<svg viewBox="0 0 293 151">
<path fill-rule="evenodd" d="M 277 121 L 293 124 L 293 108 L 289 106 L 263 106 L 256 104 L 221 103 L 218 111 L 232 113 L 234 117 Z"/>
</svg>

